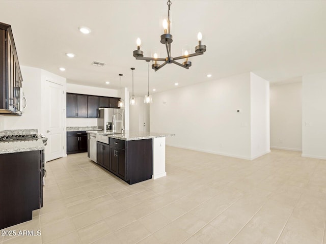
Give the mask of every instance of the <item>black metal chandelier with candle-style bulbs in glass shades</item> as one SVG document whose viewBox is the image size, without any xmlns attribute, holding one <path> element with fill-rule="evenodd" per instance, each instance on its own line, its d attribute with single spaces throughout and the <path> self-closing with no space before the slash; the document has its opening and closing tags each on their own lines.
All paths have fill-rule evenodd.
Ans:
<svg viewBox="0 0 326 244">
<path fill-rule="evenodd" d="M 185 69 L 189 69 L 189 67 L 192 66 L 192 62 L 188 60 L 189 57 L 202 55 L 206 51 L 206 46 L 202 45 L 202 34 L 198 33 L 198 45 L 195 47 L 195 53 L 188 53 L 187 50 L 184 51 L 182 56 L 178 57 L 172 57 L 171 56 L 171 43 L 173 41 L 172 35 L 171 35 L 171 1 L 169 0 L 168 5 L 168 18 L 163 20 L 163 28 L 164 28 L 164 34 L 161 35 L 161 43 L 166 46 L 167 49 L 167 57 L 166 58 L 160 58 L 157 56 L 157 53 L 154 53 L 153 57 L 144 57 L 144 52 L 141 50 L 141 39 L 137 39 L 137 50 L 133 51 L 133 56 L 136 59 L 146 60 L 146 61 L 154 61 L 154 64 L 152 64 L 152 69 L 155 71 L 158 71 L 160 68 L 165 66 L 166 64 L 176 64 L 178 66 L 181 66 Z M 184 62 L 181 64 L 179 62 L 176 62 L 176 60 L 179 59 L 185 59 Z M 158 64 L 158 61 L 163 61 L 164 63 Z"/>
</svg>

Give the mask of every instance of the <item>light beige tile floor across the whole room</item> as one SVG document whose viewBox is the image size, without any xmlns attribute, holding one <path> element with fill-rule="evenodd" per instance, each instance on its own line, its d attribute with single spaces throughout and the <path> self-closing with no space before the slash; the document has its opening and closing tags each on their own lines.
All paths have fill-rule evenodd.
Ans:
<svg viewBox="0 0 326 244">
<path fill-rule="evenodd" d="M 167 177 L 129 186 L 87 154 L 48 162 L 44 207 L 10 243 L 326 244 L 326 161 L 272 150 L 253 161 L 175 147 Z"/>
</svg>

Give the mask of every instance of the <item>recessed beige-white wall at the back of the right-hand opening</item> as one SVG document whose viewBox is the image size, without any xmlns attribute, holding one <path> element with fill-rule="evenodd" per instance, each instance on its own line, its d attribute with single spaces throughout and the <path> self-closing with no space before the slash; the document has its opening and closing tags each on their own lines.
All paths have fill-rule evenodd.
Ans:
<svg viewBox="0 0 326 244">
<path fill-rule="evenodd" d="M 270 147 L 302 150 L 302 82 L 270 86 Z"/>
</svg>

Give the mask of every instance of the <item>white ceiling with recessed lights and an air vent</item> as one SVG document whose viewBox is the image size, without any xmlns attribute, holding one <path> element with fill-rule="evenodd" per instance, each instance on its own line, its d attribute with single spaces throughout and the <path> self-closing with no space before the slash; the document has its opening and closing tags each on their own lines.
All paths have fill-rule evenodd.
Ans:
<svg viewBox="0 0 326 244">
<path fill-rule="evenodd" d="M 189 70 L 174 64 L 150 68 L 150 93 L 250 71 L 272 83 L 326 71 L 326 1 L 172 0 L 171 10 L 172 56 L 181 55 L 184 45 L 198 45 L 199 31 L 207 51 L 191 59 Z M 137 95 L 147 92 L 147 63 L 132 56 L 135 41 L 142 39 L 145 56 L 159 48 L 166 57 L 159 42 L 159 19 L 166 12 L 167 0 L 0 1 L 0 22 L 12 26 L 20 65 L 69 83 L 114 89 L 120 88 L 119 73 L 122 86 L 131 88 L 134 67 Z M 92 33 L 80 33 L 79 26 Z M 94 60 L 106 66 L 91 66 Z"/>
</svg>

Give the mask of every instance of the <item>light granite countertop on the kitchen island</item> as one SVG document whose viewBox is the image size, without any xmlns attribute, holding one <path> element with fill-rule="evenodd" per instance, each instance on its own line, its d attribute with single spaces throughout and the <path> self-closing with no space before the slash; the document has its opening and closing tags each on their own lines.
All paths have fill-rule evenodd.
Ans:
<svg viewBox="0 0 326 244">
<path fill-rule="evenodd" d="M 175 134 L 168 133 L 157 133 L 157 132 L 133 132 L 133 131 L 124 131 L 123 134 L 115 134 L 113 131 L 87 131 L 87 133 L 95 135 L 107 135 L 110 138 L 120 139 L 125 141 L 134 141 L 134 140 L 143 140 L 143 139 L 152 139 L 158 137 L 168 137 L 175 136 Z"/>
</svg>

